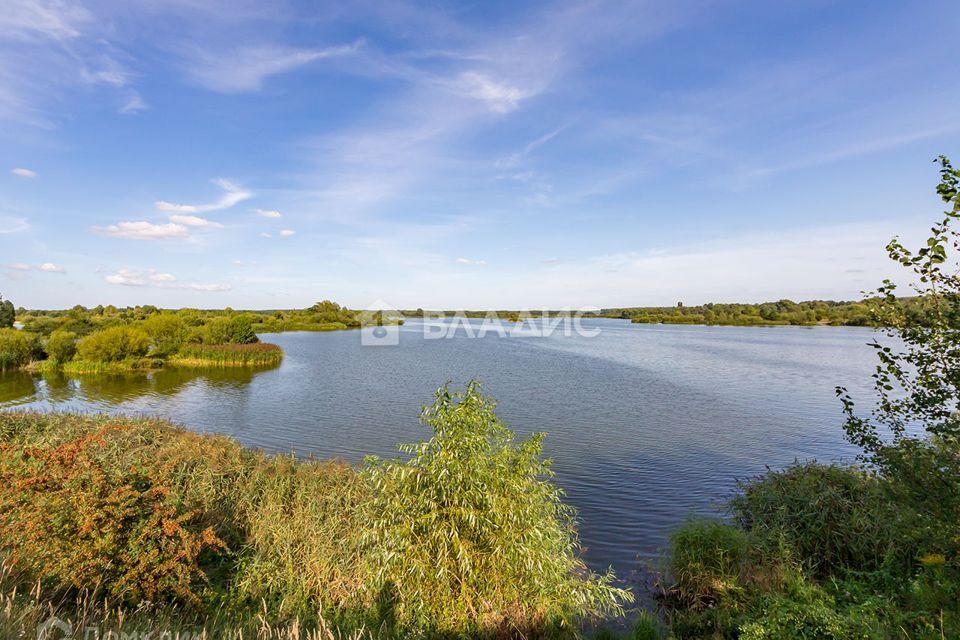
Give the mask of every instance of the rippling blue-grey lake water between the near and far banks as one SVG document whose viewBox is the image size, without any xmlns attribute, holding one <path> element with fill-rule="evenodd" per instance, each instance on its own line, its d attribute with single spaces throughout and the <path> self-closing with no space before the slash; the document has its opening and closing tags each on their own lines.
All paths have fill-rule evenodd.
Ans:
<svg viewBox="0 0 960 640">
<path fill-rule="evenodd" d="M 350 331 L 270 335 L 286 352 L 273 370 L 6 374 L 0 407 L 155 414 L 270 451 L 359 461 L 427 437 L 420 406 L 445 380 L 478 377 L 514 430 L 549 433 L 588 561 L 623 577 L 735 479 L 797 458 L 853 455 L 833 389 L 866 397 L 870 330 L 584 325 L 602 332 L 438 340 L 410 321 L 399 346 L 376 348 Z"/>
</svg>

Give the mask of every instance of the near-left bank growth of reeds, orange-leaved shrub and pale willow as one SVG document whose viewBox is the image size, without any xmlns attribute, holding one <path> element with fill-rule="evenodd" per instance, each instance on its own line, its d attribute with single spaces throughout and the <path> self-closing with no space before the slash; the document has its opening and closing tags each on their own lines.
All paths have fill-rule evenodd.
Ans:
<svg viewBox="0 0 960 640">
<path fill-rule="evenodd" d="M 216 637 L 566 635 L 622 613 L 629 593 L 579 557 L 542 435 L 516 442 L 475 383 L 421 419 L 433 437 L 408 458 L 355 468 L 159 420 L 0 413 L 0 628 L 32 637 L 51 605 Z"/>
</svg>

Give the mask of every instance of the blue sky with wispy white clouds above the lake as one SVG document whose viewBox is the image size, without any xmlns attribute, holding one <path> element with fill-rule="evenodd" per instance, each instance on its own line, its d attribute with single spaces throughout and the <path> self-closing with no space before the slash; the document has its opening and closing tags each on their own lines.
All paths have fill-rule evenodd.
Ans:
<svg viewBox="0 0 960 640">
<path fill-rule="evenodd" d="M 960 3 L 5 0 L 17 306 L 855 299 L 943 209 Z"/>
</svg>

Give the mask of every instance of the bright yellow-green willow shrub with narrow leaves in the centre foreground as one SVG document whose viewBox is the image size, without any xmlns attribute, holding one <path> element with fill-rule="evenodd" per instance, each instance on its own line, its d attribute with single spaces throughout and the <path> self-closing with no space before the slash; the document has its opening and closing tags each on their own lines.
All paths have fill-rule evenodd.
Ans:
<svg viewBox="0 0 960 640">
<path fill-rule="evenodd" d="M 524 629 L 618 612 L 629 593 L 577 556 L 574 512 L 546 478 L 543 435 L 514 443 L 471 382 L 436 393 L 421 420 L 434 437 L 370 458 L 372 585 L 401 625 Z"/>
</svg>

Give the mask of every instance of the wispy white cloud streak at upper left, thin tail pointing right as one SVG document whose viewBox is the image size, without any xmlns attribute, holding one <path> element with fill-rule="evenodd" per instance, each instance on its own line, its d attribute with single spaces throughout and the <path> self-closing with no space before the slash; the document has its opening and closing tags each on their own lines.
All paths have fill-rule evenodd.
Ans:
<svg viewBox="0 0 960 640">
<path fill-rule="evenodd" d="M 188 73 L 197 84 L 220 93 L 256 91 L 272 75 L 324 58 L 348 56 L 361 46 L 363 41 L 358 40 L 325 49 L 262 46 L 217 52 L 196 51 L 188 61 Z"/>
</svg>

